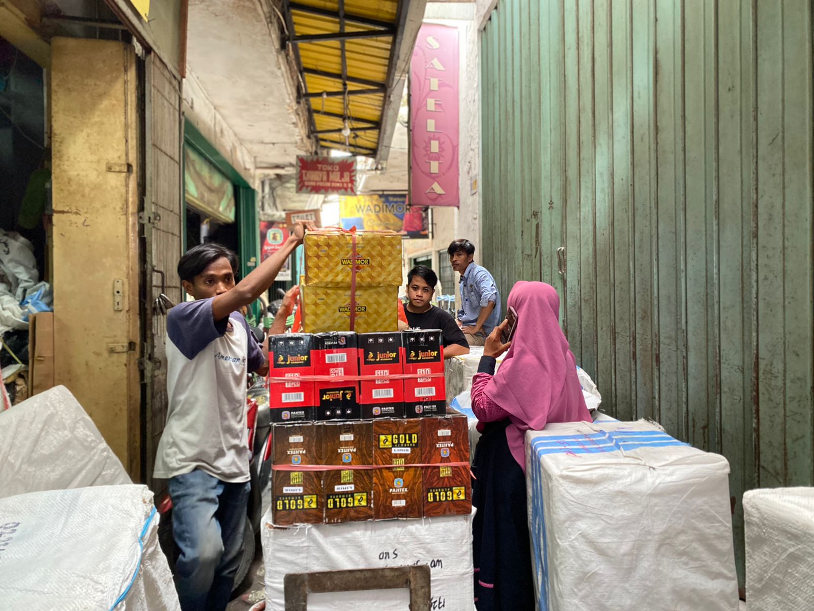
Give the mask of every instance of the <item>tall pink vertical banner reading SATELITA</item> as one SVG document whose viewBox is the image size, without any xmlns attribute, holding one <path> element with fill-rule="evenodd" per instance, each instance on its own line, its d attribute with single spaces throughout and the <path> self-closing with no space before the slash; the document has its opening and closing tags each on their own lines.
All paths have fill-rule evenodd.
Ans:
<svg viewBox="0 0 814 611">
<path fill-rule="evenodd" d="M 458 32 L 424 24 L 410 65 L 410 201 L 457 206 Z"/>
</svg>

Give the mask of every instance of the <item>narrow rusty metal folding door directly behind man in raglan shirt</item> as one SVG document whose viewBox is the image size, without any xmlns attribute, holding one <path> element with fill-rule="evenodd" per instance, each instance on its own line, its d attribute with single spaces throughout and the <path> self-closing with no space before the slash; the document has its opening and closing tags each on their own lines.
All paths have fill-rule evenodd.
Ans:
<svg viewBox="0 0 814 611">
<path fill-rule="evenodd" d="M 167 420 L 167 360 L 164 355 L 166 315 L 155 300 L 164 293 L 173 303 L 182 299 L 177 276 L 182 231 L 182 108 L 181 84 L 158 55 L 146 59 L 145 197 L 139 214 L 142 227 L 142 380 L 144 477 L 156 495 L 152 478 L 155 450 Z"/>
</svg>

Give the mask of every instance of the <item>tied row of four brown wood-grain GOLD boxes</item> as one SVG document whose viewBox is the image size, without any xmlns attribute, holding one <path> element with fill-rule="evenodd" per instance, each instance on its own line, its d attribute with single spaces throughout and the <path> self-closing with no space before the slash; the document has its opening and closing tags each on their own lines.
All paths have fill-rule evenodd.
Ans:
<svg viewBox="0 0 814 611">
<path fill-rule="evenodd" d="M 274 427 L 275 525 L 466 515 L 466 416 Z M 463 464 L 462 464 L 463 463 Z M 300 465 L 312 467 L 298 471 Z M 323 469 L 314 470 L 314 466 Z"/>
</svg>

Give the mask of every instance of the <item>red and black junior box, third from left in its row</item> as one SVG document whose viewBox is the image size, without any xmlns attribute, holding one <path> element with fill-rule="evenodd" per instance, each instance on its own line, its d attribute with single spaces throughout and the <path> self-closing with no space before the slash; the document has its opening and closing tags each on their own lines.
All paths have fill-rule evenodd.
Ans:
<svg viewBox="0 0 814 611">
<path fill-rule="evenodd" d="M 404 418 L 404 381 L 391 378 L 404 373 L 401 333 L 361 333 L 358 337 L 361 376 L 381 376 L 361 382 L 361 417 Z"/>
</svg>

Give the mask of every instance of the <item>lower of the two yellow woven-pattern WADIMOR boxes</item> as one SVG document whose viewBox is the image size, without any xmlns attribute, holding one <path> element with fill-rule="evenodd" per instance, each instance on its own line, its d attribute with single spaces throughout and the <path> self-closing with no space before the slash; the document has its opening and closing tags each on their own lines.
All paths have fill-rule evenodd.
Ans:
<svg viewBox="0 0 814 611">
<path fill-rule="evenodd" d="M 357 333 L 398 331 L 398 287 L 357 287 Z M 350 287 L 300 287 L 306 333 L 350 331 Z"/>
</svg>

